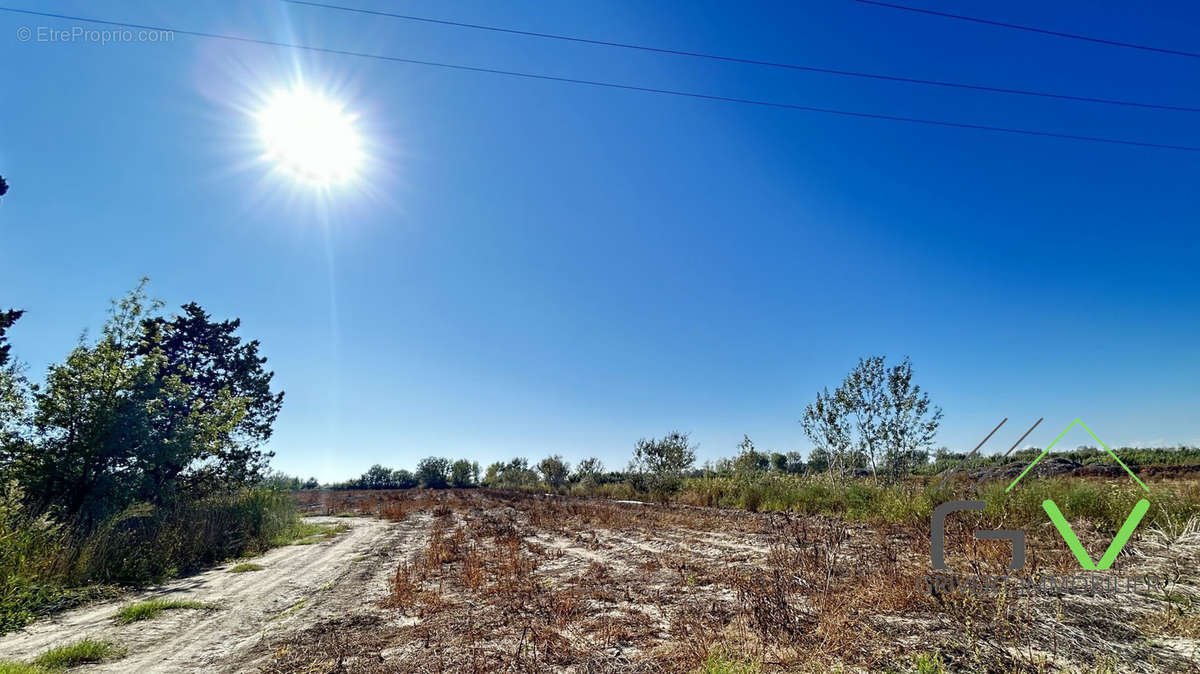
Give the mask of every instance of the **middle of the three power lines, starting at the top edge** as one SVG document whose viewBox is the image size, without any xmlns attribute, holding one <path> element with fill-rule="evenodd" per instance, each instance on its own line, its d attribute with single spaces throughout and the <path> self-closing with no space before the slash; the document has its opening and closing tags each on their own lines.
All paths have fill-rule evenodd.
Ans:
<svg viewBox="0 0 1200 674">
<path fill-rule="evenodd" d="M 947 82 L 947 80 L 941 80 L 941 79 L 923 79 L 923 78 L 914 78 L 914 77 L 900 77 L 900 76 L 889 76 L 889 74 L 880 74 L 880 73 L 870 73 L 870 72 L 860 72 L 860 71 L 846 71 L 846 70 L 838 70 L 838 68 L 822 68 L 822 67 L 816 67 L 816 66 L 802 66 L 802 65 L 798 65 L 798 64 L 785 64 L 785 62 L 779 62 L 779 61 L 764 61 L 764 60 L 758 60 L 758 59 L 746 59 L 746 58 L 742 58 L 742 56 L 726 56 L 726 55 L 721 55 L 721 54 L 709 54 L 709 53 L 704 53 L 704 52 L 688 52 L 688 50 L 683 50 L 683 49 L 668 49 L 668 48 L 665 48 L 665 47 L 650 47 L 650 46 L 647 46 L 647 44 L 634 44 L 634 43 L 628 43 L 628 42 L 612 42 L 612 41 L 607 41 L 607 40 L 592 40 L 592 38 L 587 38 L 587 37 L 577 37 L 577 36 L 572 36 L 572 35 L 560 35 L 560 34 L 553 34 L 553 32 L 536 32 L 536 31 L 532 31 L 532 30 L 521 30 L 521 29 L 514 29 L 514 28 L 500 28 L 500 26 L 494 26 L 494 25 L 472 24 L 472 23 L 463 23 L 463 22 L 451 22 L 451 20 L 446 20 L 446 19 L 434 19 L 434 18 L 430 18 L 430 17 L 416 17 L 416 16 L 413 16 L 413 14 L 398 14 L 398 13 L 394 13 L 394 12 L 382 12 L 382 11 L 377 11 L 377 10 L 364 10 L 361 7 L 347 7 L 347 6 L 343 6 L 343 5 L 329 5 L 329 4 L 325 4 L 325 2 L 313 2 L 311 0 L 282 0 L 282 1 L 283 2 L 288 2 L 290 5 L 302 5 L 302 6 L 307 6 L 307 7 L 317 7 L 317 8 L 322 8 L 322 10 L 335 10 L 335 11 L 338 11 L 338 12 L 350 12 L 350 13 L 355 13 L 355 14 L 367 14 L 367 16 L 376 16 L 376 17 L 386 17 L 386 18 L 392 18 L 392 19 L 409 20 L 409 22 L 421 22 L 421 23 L 427 23 L 427 24 L 449 25 L 449 26 L 455 26 L 455 28 L 467 28 L 467 29 L 473 29 L 473 30 L 486 30 L 486 31 L 491 31 L 491 32 L 503 32 L 503 34 L 509 34 L 509 35 L 520 35 L 520 36 L 523 36 L 523 37 L 538 37 L 538 38 L 545 38 L 545 40 L 559 40 L 559 41 L 564 41 L 564 42 L 577 42 L 577 43 L 581 43 L 581 44 L 593 44 L 593 46 L 599 46 L 599 47 L 616 47 L 616 48 L 619 48 L 619 49 L 635 49 L 635 50 L 638 50 L 638 52 L 649 52 L 649 53 L 653 53 L 653 54 L 670 54 L 670 55 L 673 55 L 673 56 L 691 56 L 691 58 L 696 58 L 696 59 L 708 59 L 708 60 L 713 60 L 713 61 L 724 61 L 724 62 L 728 62 L 728 64 L 744 64 L 744 65 L 751 65 L 751 66 L 766 66 L 766 67 L 772 67 L 772 68 L 785 68 L 785 70 L 790 70 L 790 71 L 812 72 L 812 73 L 832 74 L 832 76 L 838 76 L 838 77 L 856 77 L 856 78 L 862 78 L 862 79 L 876 79 L 876 80 L 884 80 L 884 82 L 899 82 L 899 83 L 904 83 L 904 84 L 920 84 L 920 85 L 929 85 L 929 86 L 944 86 L 944 88 L 949 88 L 949 89 L 968 89 L 968 90 L 974 90 L 974 91 L 989 91 L 989 92 L 992 92 L 992 94 L 1010 94 L 1010 95 L 1016 95 L 1016 96 L 1036 96 L 1036 97 L 1040 97 L 1040 98 L 1056 98 L 1056 100 L 1060 100 L 1060 101 L 1076 101 L 1076 102 L 1082 102 L 1082 103 L 1102 103 L 1102 104 L 1106 104 L 1106 106 L 1128 106 L 1128 107 L 1134 107 L 1134 108 L 1150 108 L 1150 109 L 1157 109 L 1157 110 L 1175 110 L 1175 112 L 1184 112 L 1184 113 L 1200 113 L 1200 108 L 1189 107 L 1189 106 L 1169 106 L 1169 104 L 1164 104 L 1164 103 L 1145 103 L 1145 102 L 1140 102 L 1140 101 L 1124 101 L 1124 100 L 1120 100 L 1120 98 L 1102 98 L 1102 97 L 1097 97 L 1097 96 L 1073 96 L 1073 95 L 1069 95 L 1069 94 L 1055 94 L 1055 92 L 1051 92 L 1051 91 L 1034 91 L 1034 90 L 1030 90 L 1030 89 L 1009 89 L 1009 88 L 1003 88 L 1003 86 L 989 86 L 989 85 L 984 85 L 984 84 L 967 84 L 967 83 L 964 83 L 964 82 Z"/>
</svg>

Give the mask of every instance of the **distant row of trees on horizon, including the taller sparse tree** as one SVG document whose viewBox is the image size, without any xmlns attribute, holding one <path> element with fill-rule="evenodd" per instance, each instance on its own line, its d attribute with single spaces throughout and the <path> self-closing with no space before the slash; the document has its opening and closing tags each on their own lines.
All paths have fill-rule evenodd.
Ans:
<svg viewBox="0 0 1200 674">
<path fill-rule="evenodd" d="M 820 391 L 800 420 L 815 445 L 808 459 L 796 451 L 763 452 L 749 435 L 738 453 L 696 465 L 696 446 L 688 433 L 672 431 L 661 438 L 643 438 L 624 470 L 607 471 L 599 458 L 581 461 L 574 469 L 560 455 L 536 464 L 524 457 L 479 464 L 442 457 L 421 459 L 415 471 L 373 465 L 362 476 L 326 486 L 332 489 L 403 489 L 410 487 L 546 488 L 596 487 L 628 483 L 634 491 L 670 493 L 683 481 L 757 474 L 829 475 L 845 479 L 869 475 L 894 482 L 929 465 L 931 445 L 942 411 L 914 384 L 912 362 L 904 359 L 888 367 L 883 356 L 859 360 L 833 391 Z M 943 456 L 947 452 L 942 450 Z M 299 483 L 290 479 L 293 485 Z M 310 480 L 307 483 L 312 483 Z"/>
</svg>

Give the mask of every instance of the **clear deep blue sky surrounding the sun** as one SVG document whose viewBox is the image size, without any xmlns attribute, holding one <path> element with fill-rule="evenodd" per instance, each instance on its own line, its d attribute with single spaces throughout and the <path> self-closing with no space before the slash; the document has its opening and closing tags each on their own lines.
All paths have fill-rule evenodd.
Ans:
<svg viewBox="0 0 1200 674">
<path fill-rule="evenodd" d="M 350 0 L 347 0 L 350 4 Z M 850 1 L 368 2 L 410 14 L 1200 107 L 1200 60 Z M 274 1 L 22 2 L 176 29 L 797 104 L 1200 145 L 1200 114 L 841 79 Z M 953 10 L 947 2 L 920 6 Z M 1187 49 L 1186 4 L 1009 20 Z M 764 109 L 199 40 L 19 42 L 0 13 L 0 303 L 41 373 L 137 279 L 240 317 L 287 391 L 270 447 L 323 480 L 424 456 L 599 456 L 689 431 L 808 451 L 804 404 L 910 355 L 938 444 L 1200 444 L 1200 154 Z M 362 179 L 259 160 L 299 78 L 359 116 Z M 1020 427 L 1020 428 L 1018 428 Z M 1069 438 L 1067 440 L 1070 440 Z M 1080 437 L 1078 443 L 1086 440 Z"/>
</svg>

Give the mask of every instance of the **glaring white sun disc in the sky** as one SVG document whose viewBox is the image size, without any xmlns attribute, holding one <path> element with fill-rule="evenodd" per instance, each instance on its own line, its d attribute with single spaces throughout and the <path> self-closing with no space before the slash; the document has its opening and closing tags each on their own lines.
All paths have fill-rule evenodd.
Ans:
<svg viewBox="0 0 1200 674">
<path fill-rule="evenodd" d="M 277 91 L 256 119 L 265 158 L 294 177 L 332 186 L 358 175 L 362 140 L 341 103 L 307 89 Z"/>
</svg>

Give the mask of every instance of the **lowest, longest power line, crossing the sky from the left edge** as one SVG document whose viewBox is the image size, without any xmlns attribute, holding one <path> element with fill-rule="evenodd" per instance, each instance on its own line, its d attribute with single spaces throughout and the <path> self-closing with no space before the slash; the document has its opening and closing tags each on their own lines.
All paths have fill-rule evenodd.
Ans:
<svg viewBox="0 0 1200 674">
<path fill-rule="evenodd" d="M 798 106 L 798 104 L 793 104 L 793 103 L 780 103 L 780 102 L 775 102 L 775 101 L 761 101 L 761 100 L 755 100 L 755 98 L 739 98 L 739 97 L 736 97 L 736 96 L 718 96 L 718 95 L 712 95 L 712 94 L 700 94 L 700 92 L 695 92 L 695 91 L 677 91 L 677 90 L 673 90 L 673 89 L 656 89 L 656 88 L 652 88 L 652 86 L 637 86 L 637 85 L 632 85 L 632 84 L 617 84 L 617 83 L 612 83 L 612 82 L 599 82 L 599 80 L 592 80 L 592 79 L 577 79 L 577 78 L 570 78 L 570 77 L 556 77 L 556 76 L 550 76 L 550 74 L 536 74 L 536 73 L 526 73 L 526 72 L 517 72 L 517 71 L 504 71 L 504 70 L 498 70 L 498 68 L 486 68 L 486 67 L 479 67 L 479 66 L 464 66 L 464 65 L 458 65 L 458 64 L 443 64 L 443 62 L 438 62 L 438 61 L 422 61 L 422 60 L 418 60 L 418 59 L 404 59 L 404 58 L 401 58 L 401 56 L 388 56 L 388 55 L 383 55 L 383 54 L 368 54 L 368 53 L 365 53 L 365 52 L 350 52 L 350 50 L 347 50 L 347 49 L 332 49 L 332 48 L 328 48 L 328 47 L 316 47 L 316 46 L 312 46 L 312 44 L 301 44 L 301 43 L 296 43 L 296 42 L 277 42 L 277 41 L 274 41 L 274 40 L 260 40 L 260 38 L 256 38 L 256 37 L 241 37 L 241 36 L 236 36 L 236 35 L 223 35 L 223 34 L 218 34 L 218 32 L 204 32 L 204 31 L 198 31 L 198 30 L 184 30 L 184 29 L 174 29 L 174 28 L 169 28 L 169 26 L 157 26 L 157 25 L 136 24 L 136 23 L 126 23 L 126 22 L 114 22 L 114 20 L 108 20 L 108 19 L 92 19 L 92 18 L 86 18 L 86 17 L 73 17 L 73 16 L 70 16 L 70 14 L 60 14 L 60 13 L 53 13 L 53 12 L 36 12 L 34 10 L 19 10 L 19 8 L 16 8 L 16 7 L 4 7 L 4 6 L 0 6 L 0 12 L 11 12 L 11 13 L 17 13 L 17 14 L 48 17 L 48 18 L 55 18 L 55 19 L 67 19 L 67 20 L 84 22 L 84 23 L 91 23 L 91 24 L 97 24 L 97 25 L 113 25 L 113 26 L 120 26 L 120 28 L 132 28 L 132 29 L 138 29 L 138 30 L 170 31 L 170 32 L 175 32 L 175 34 L 179 34 L 179 35 L 190 35 L 192 37 L 206 37 L 206 38 L 211 38 L 211 40 L 226 40 L 226 41 L 230 41 L 230 42 L 244 42 L 244 43 L 250 43 L 250 44 L 263 44 L 263 46 L 268 46 L 268 47 L 283 47 L 283 48 L 287 48 L 287 49 L 301 49 L 301 50 L 306 50 L 306 52 L 317 52 L 317 53 L 322 53 L 322 54 L 336 54 L 336 55 L 341 55 L 341 56 L 355 56 L 355 58 L 361 58 L 361 59 L 373 59 L 373 60 L 378 60 L 378 61 L 389 61 L 389 62 L 397 62 L 397 64 L 409 64 L 409 65 L 415 65 L 415 66 L 428 66 L 428 67 L 448 68 L 448 70 L 456 70 L 456 71 L 464 71 L 464 72 L 478 72 L 478 73 L 487 73 L 487 74 L 499 74 L 499 76 L 506 76 L 506 77 L 520 77 L 520 78 L 526 78 L 526 79 L 538 79 L 538 80 L 545 80 L 545 82 L 560 82 L 560 83 L 568 83 L 568 84 L 581 84 L 581 85 L 587 85 L 587 86 L 600 86 L 600 88 L 606 88 L 606 89 L 619 89 L 619 90 L 625 90 L 625 91 L 642 91 L 642 92 L 646 92 L 646 94 L 661 94 L 661 95 L 666 95 L 666 96 L 682 96 L 682 97 L 686 97 L 686 98 L 700 98 L 700 100 L 706 100 L 706 101 L 721 101 L 721 102 L 725 102 L 725 103 L 740 103 L 740 104 L 758 106 L 758 107 L 764 107 L 764 108 L 779 108 L 779 109 L 786 109 L 786 110 L 800 110 L 800 112 L 808 112 L 808 113 L 822 113 L 822 114 L 829 114 L 829 115 L 840 115 L 840 116 L 860 118 L 860 119 L 900 121 L 900 122 L 920 124 L 920 125 L 926 125 L 926 126 L 941 126 L 941 127 L 949 127 L 949 128 L 967 128 L 967 130 L 972 130 L 972 131 L 992 131 L 992 132 L 997 132 L 997 133 L 1010 133 L 1010 134 L 1019 134 L 1019 136 L 1033 136 L 1033 137 L 1042 137 L 1042 138 L 1062 138 L 1062 139 L 1067 139 L 1067 140 L 1082 140 L 1082 142 L 1087 142 L 1087 143 L 1105 143 L 1105 144 L 1110 144 L 1110 145 L 1128 145 L 1128 146 L 1135 146 L 1135 148 L 1154 148 L 1154 149 L 1159 149 L 1159 150 L 1180 150 L 1180 151 L 1184 151 L 1184 152 L 1200 152 L 1200 146 L 1194 146 L 1194 145 L 1175 145 L 1175 144 L 1168 144 L 1168 143 L 1147 143 L 1147 142 L 1141 142 L 1141 140 L 1124 140 L 1124 139 L 1120 139 L 1120 138 L 1105 138 L 1105 137 L 1098 137 L 1098 136 L 1078 136 L 1078 134 L 1072 134 L 1072 133 L 1055 133 L 1055 132 L 1051 132 L 1051 131 L 1034 131 L 1034 130 L 1028 130 L 1028 128 L 1014 128 L 1014 127 L 989 126 L 989 125 L 980 125 L 980 124 L 953 122 L 953 121 L 944 121 L 944 120 L 930 120 L 930 119 L 908 118 L 908 116 L 900 116 L 900 115 L 886 115 L 886 114 L 878 114 L 878 113 L 863 113 L 863 112 L 856 112 L 856 110 L 844 110 L 844 109 L 838 109 L 838 108 L 818 108 L 818 107 L 814 107 L 814 106 Z"/>
</svg>

